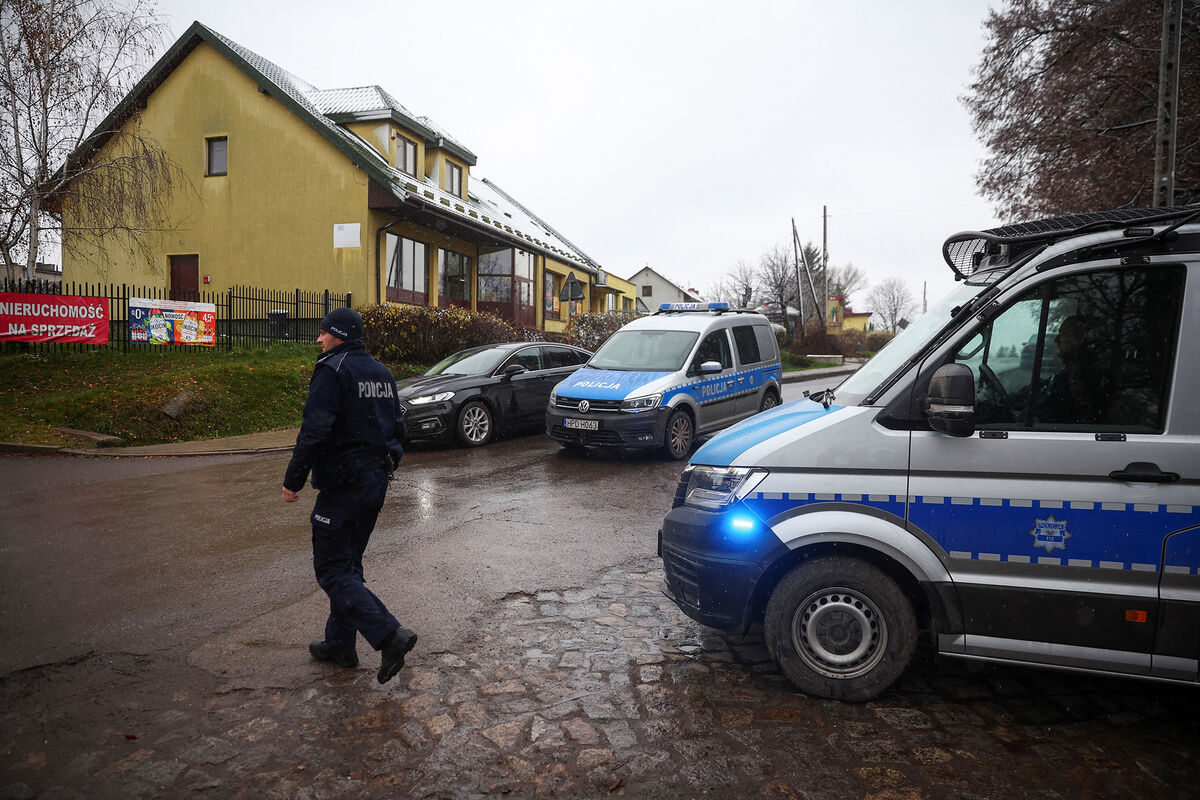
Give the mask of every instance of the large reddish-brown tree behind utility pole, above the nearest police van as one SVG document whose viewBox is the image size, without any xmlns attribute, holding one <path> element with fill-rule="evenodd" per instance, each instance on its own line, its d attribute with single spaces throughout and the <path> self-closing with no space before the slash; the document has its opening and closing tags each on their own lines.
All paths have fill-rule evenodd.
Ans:
<svg viewBox="0 0 1200 800">
<path fill-rule="evenodd" d="M 1006 0 L 962 97 L 989 156 L 976 176 L 1021 219 L 1153 197 L 1162 2 Z M 1176 203 L 1200 200 L 1200 0 L 1183 0 Z"/>
</svg>

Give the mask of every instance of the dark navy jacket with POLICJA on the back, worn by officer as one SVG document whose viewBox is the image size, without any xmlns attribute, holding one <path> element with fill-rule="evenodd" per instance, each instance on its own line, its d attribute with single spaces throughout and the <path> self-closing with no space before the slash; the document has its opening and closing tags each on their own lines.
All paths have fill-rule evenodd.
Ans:
<svg viewBox="0 0 1200 800">
<path fill-rule="evenodd" d="M 299 492 L 310 470 L 317 489 L 348 483 L 374 467 L 390 471 L 403 455 L 403 409 L 388 367 L 360 339 L 343 342 L 317 359 L 283 486 Z"/>
</svg>

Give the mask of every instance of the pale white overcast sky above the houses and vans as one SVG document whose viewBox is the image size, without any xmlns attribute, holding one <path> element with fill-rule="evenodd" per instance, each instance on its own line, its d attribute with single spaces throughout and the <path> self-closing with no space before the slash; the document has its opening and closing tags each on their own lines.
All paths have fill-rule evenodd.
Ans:
<svg viewBox="0 0 1200 800">
<path fill-rule="evenodd" d="M 701 291 L 822 240 L 920 302 L 997 224 L 959 97 L 997 0 L 160 0 L 320 89 L 378 84 L 605 270 Z M 164 43 L 164 47 L 170 42 Z M 852 297 L 865 309 L 866 291 Z"/>
</svg>

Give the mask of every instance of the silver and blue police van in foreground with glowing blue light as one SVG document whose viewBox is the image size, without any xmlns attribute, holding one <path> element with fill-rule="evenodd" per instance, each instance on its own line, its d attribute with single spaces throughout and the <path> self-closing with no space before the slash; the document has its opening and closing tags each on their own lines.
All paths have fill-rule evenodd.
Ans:
<svg viewBox="0 0 1200 800">
<path fill-rule="evenodd" d="M 866 700 L 962 658 L 1195 682 L 1200 206 L 952 236 L 961 281 L 835 391 L 692 456 L 665 590 Z"/>
</svg>

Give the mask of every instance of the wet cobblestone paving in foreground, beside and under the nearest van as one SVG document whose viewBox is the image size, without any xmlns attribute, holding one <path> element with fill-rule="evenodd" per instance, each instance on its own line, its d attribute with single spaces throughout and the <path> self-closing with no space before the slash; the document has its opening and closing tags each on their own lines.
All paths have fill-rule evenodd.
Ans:
<svg viewBox="0 0 1200 800">
<path fill-rule="evenodd" d="M 13 673 L 0 800 L 1200 796 L 1194 690 L 926 658 L 878 702 L 812 699 L 660 582 L 646 559 L 509 596 L 382 687 L 377 656 L 253 688 L 178 650 Z"/>
</svg>

